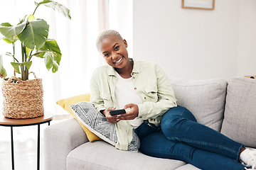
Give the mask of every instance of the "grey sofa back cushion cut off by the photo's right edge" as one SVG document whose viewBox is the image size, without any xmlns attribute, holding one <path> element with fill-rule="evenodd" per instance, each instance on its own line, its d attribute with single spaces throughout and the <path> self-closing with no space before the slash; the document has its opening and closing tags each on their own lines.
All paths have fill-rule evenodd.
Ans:
<svg viewBox="0 0 256 170">
<path fill-rule="evenodd" d="M 248 147 L 256 147 L 256 79 L 228 81 L 221 132 Z"/>
</svg>

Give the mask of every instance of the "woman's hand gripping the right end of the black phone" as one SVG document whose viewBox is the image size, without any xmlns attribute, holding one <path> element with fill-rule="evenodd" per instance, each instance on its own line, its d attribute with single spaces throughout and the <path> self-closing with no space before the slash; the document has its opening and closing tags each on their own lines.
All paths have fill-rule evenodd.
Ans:
<svg viewBox="0 0 256 170">
<path fill-rule="evenodd" d="M 124 114 L 117 115 L 120 120 L 134 120 L 139 115 L 139 107 L 137 104 L 129 103 L 124 106 L 124 109 L 130 108 L 130 111 Z"/>
</svg>

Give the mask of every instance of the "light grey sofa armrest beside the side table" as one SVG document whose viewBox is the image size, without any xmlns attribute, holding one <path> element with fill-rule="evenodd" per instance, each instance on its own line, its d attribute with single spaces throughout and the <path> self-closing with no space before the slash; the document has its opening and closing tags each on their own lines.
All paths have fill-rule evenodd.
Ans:
<svg viewBox="0 0 256 170">
<path fill-rule="evenodd" d="M 68 154 L 89 141 L 74 118 L 48 126 L 43 135 L 45 170 L 65 170 Z"/>
</svg>

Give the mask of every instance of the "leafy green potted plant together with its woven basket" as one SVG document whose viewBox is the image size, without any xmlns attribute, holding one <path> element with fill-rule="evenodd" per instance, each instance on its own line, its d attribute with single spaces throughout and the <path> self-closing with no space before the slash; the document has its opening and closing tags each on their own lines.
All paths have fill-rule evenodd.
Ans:
<svg viewBox="0 0 256 170">
<path fill-rule="evenodd" d="M 37 112 L 36 110 L 38 109 L 28 109 L 28 106 L 38 107 L 36 106 L 38 103 L 31 103 L 29 100 L 30 98 L 33 97 L 32 101 L 36 100 L 34 99 L 35 96 L 43 98 L 41 79 L 28 80 L 28 70 L 33 63 L 33 57 L 44 59 L 46 68 L 48 70 L 51 69 L 53 73 L 58 71 L 58 66 L 60 64 L 62 54 L 58 47 L 58 43 L 53 39 L 48 39 L 49 25 L 43 19 L 35 18 L 34 14 L 36 13 L 36 9 L 39 6 L 47 6 L 53 8 L 53 10 L 59 11 L 65 17 L 71 19 L 70 10 L 56 1 L 43 0 L 39 3 L 35 2 L 35 4 L 36 8 L 33 11 L 33 14 L 23 17 L 16 26 L 12 26 L 10 23 L 1 23 L 0 25 L 0 33 L 1 35 L 4 35 L 1 39 L 11 44 L 13 47 L 13 51 L 6 52 L 5 55 L 14 59 L 14 62 L 11 62 L 11 65 L 14 67 L 14 74 L 21 74 L 20 78 L 11 77 L 10 79 L 4 79 L 2 84 L 2 93 L 4 96 L 3 114 L 8 118 L 34 118 L 43 114 L 43 108 L 39 108 L 41 111 L 38 111 L 40 112 L 38 115 L 35 115 L 35 112 Z M 16 54 L 17 42 L 20 42 L 21 54 Z M 4 69 L 3 66 L 3 56 L 4 55 L 0 55 L 0 77 L 5 78 L 6 69 Z M 38 81 L 38 83 L 35 83 L 35 81 Z M 39 93 L 32 94 L 33 91 L 39 91 Z M 24 93 L 22 94 L 21 92 Z M 32 95 L 29 96 L 28 94 Z M 25 98 L 25 96 L 28 97 Z M 16 101 L 16 103 L 9 106 L 12 101 Z M 26 103 L 26 101 L 28 102 Z M 24 105 L 23 103 L 26 104 Z M 42 101 L 39 103 L 43 105 Z M 21 105 L 23 111 L 14 111 L 14 108 L 22 108 Z M 18 113 L 18 116 L 16 114 L 17 112 L 20 112 Z"/>
</svg>

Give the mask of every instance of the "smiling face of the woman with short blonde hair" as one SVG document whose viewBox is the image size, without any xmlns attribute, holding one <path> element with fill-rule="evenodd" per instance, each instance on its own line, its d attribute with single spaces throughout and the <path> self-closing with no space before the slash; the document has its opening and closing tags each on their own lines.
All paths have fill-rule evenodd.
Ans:
<svg viewBox="0 0 256 170">
<path fill-rule="evenodd" d="M 115 35 L 107 36 L 100 41 L 98 49 L 111 67 L 122 69 L 129 62 L 126 40 L 120 40 Z"/>
</svg>

